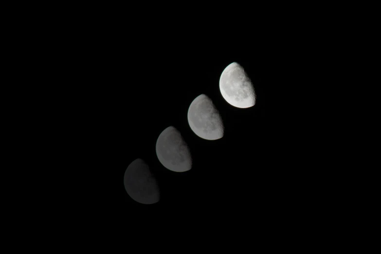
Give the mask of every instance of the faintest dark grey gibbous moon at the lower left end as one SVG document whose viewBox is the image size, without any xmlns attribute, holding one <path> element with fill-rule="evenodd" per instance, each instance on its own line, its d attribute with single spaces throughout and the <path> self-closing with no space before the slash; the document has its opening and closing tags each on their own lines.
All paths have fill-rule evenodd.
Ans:
<svg viewBox="0 0 381 254">
<path fill-rule="evenodd" d="M 127 194 L 142 204 L 153 204 L 160 199 L 159 185 L 142 159 L 136 159 L 127 167 L 124 177 Z"/>
</svg>

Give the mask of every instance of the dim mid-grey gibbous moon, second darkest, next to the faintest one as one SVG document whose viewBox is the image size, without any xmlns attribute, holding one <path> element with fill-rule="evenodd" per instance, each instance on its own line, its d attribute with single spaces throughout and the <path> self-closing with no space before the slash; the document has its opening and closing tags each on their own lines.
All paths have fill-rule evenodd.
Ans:
<svg viewBox="0 0 381 254">
<path fill-rule="evenodd" d="M 160 133 L 156 142 L 156 155 L 169 170 L 184 172 L 192 168 L 192 156 L 180 131 L 170 126 Z"/>
</svg>

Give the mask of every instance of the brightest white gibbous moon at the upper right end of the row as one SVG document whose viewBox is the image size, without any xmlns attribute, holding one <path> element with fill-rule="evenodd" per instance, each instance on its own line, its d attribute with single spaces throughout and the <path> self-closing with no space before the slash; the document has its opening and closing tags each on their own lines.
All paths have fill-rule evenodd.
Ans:
<svg viewBox="0 0 381 254">
<path fill-rule="evenodd" d="M 219 90 L 222 97 L 234 107 L 250 108 L 255 104 L 253 83 L 242 66 L 236 62 L 223 70 L 219 78 Z"/>
</svg>

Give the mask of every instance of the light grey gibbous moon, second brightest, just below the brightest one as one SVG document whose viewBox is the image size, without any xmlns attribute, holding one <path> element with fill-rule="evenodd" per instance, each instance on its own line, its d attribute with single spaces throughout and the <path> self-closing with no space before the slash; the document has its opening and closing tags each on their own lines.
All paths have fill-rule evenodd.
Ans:
<svg viewBox="0 0 381 254">
<path fill-rule="evenodd" d="M 223 137 L 221 116 L 212 100 L 205 94 L 194 99 L 188 109 L 188 123 L 197 136 L 207 140 Z"/>
</svg>

